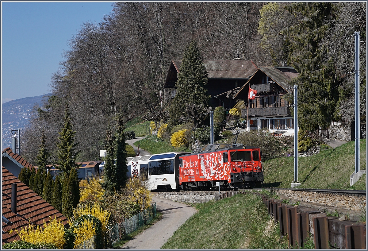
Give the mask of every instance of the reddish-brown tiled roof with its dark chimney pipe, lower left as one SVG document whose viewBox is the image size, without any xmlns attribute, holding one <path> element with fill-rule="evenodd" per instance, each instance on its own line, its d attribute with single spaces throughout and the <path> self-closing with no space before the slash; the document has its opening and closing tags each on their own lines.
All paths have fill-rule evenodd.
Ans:
<svg viewBox="0 0 368 251">
<path fill-rule="evenodd" d="M 9 231 L 20 231 L 22 227 L 28 226 L 29 222 L 41 226 L 43 222 L 47 224 L 50 217 L 57 217 L 63 221 L 65 227 L 69 227 L 68 219 L 64 215 L 10 173 L 4 163 L 1 176 L 3 244 L 20 240 L 17 232 Z"/>
</svg>

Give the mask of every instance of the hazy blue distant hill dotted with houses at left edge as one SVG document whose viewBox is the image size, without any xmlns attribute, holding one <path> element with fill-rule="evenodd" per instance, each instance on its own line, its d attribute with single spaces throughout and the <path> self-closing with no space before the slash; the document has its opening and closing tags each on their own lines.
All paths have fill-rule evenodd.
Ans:
<svg viewBox="0 0 368 251">
<path fill-rule="evenodd" d="M 3 144 L 1 145 L 2 149 L 11 147 L 11 130 L 18 130 L 18 128 L 21 128 L 22 137 L 22 129 L 26 124 L 28 124 L 33 106 L 36 104 L 41 105 L 43 97 L 49 95 L 51 95 L 51 93 L 35 97 L 15 99 L 3 103 L 3 110 L 1 111 L 3 122 L 3 130 L 1 134 L 3 139 Z"/>
</svg>

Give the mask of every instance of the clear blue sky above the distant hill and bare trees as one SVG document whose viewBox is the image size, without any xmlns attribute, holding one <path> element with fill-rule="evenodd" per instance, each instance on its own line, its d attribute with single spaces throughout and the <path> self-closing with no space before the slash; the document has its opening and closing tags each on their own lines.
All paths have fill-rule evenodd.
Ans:
<svg viewBox="0 0 368 251">
<path fill-rule="evenodd" d="M 50 92 L 67 41 L 112 2 L 1 2 L 1 103 Z"/>
</svg>

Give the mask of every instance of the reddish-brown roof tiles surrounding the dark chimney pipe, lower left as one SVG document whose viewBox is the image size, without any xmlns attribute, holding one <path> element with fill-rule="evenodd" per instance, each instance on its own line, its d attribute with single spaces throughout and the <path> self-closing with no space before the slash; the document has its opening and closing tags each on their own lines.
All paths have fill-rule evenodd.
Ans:
<svg viewBox="0 0 368 251">
<path fill-rule="evenodd" d="M 54 219 L 54 216 L 56 216 L 60 220 L 64 221 L 64 226 L 69 226 L 67 218 L 64 215 L 62 215 L 53 206 L 42 199 L 38 194 L 33 192 L 24 183 L 18 180 L 18 178 L 5 169 L 5 167 L 2 169 L 2 180 L 3 215 L 4 212 L 8 212 L 11 209 L 11 184 L 17 183 L 17 214 L 20 216 L 20 218 L 24 219 L 27 224 L 29 219 L 32 224 L 42 225 L 43 221 L 46 223 L 50 221 L 50 216 L 52 219 Z M 13 217 L 15 216 L 13 215 Z M 14 227 L 11 227 L 13 224 L 10 224 L 10 229 L 21 227 L 23 223 L 24 221 L 19 223 L 20 226 L 15 225 Z M 11 238 L 15 238 L 13 235 L 8 236 L 9 240 L 6 237 L 7 236 L 4 236 L 3 234 L 3 243 L 12 241 Z"/>
</svg>

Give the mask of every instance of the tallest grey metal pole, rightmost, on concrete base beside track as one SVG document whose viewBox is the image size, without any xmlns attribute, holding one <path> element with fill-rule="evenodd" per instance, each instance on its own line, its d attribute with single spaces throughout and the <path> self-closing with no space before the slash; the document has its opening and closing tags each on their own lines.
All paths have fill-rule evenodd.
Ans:
<svg viewBox="0 0 368 251">
<path fill-rule="evenodd" d="M 360 32 L 355 31 L 355 173 L 358 173 L 360 170 L 359 39 Z"/>
</svg>

